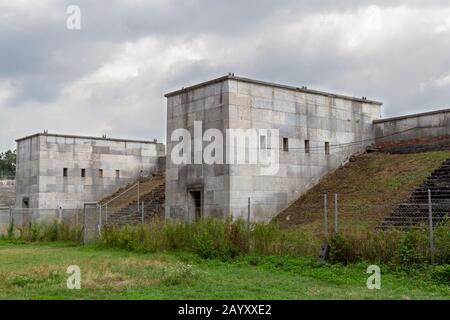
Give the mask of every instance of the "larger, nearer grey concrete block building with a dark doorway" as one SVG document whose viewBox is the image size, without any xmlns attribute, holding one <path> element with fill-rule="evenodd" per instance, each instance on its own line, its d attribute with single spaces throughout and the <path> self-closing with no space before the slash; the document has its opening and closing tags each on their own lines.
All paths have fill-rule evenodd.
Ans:
<svg viewBox="0 0 450 320">
<path fill-rule="evenodd" d="M 252 221 L 272 218 L 325 174 L 373 143 L 372 122 L 380 118 L 382 105 L 366 98 L 234 75 L 183 88 L 166 97 L 166 217 L 189 220 L 208 215 L 246 218 L 249 197 Z M 265 165 L 252 163 L 248 155 L 248 163 L 173 161 L 172 152 L 180 151 L 184 141 L 177 129 L 190 133 L 186 139 L 191 146 L 200 145 L 201 150 L 189 148 L 191 160 L 199 154 L 201 157 L 212 141 L 198 137 L 195 121 L 201 121 L 203 133 L 218 129 L 225 137 L 229 129 L 256 130 L 256 140 L 247 136 L 243 149 L 255 147 L 252 141 L 257 141 L 258 151 L 278 152 L 278 170 L 264 174 Z M 279 133 L 277 143 L 269 142 L 273 135 L 266 130 L 273 129 Z M 224 139 L 221 143 L 224 159 L 229 159 L 230 147 L 238 142 Z"/>
</svg>

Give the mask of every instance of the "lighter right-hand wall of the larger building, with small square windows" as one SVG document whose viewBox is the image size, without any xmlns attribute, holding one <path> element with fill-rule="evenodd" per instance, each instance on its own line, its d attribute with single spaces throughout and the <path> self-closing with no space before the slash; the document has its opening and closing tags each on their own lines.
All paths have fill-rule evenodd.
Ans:
<svg viewBox="0 0 450 320">
<path fill-rule="evenodd" d="M 278 129 L 279 171 L 261 176 L 230 165 L 230 214 L 247 216 L 251 198 L 252 220 L 265 221 L 286 208 L 328 172 L 363 151 L 372 141 L 333 147 L 374 138 L 372 121 L 380 118 L 380 105 L 229 80 L 230 127 Z M 282 150 L 288 138 L 289 151 Z M 305 153 L 309 140 L 310 153 Z M 325 142 L 331 146 L 325 154 Z"/>
</svg>

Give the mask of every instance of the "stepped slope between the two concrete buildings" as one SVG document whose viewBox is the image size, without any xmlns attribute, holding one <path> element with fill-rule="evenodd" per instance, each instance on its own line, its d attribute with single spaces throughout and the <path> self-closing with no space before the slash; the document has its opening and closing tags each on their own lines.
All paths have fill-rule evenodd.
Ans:
<svg viewBox="0 0 450 320">
<path fill-rule="evenodd" d="M 165 173 L 158 171 L 151 177 L 139 181 L 139 204 L 137 188 L 124 193 L 123 196 L 108 205 L 108 225 L 123 226 L 164 217 Z M 143 207 L 142 207 L 143 204 Z"/>
</svg>

